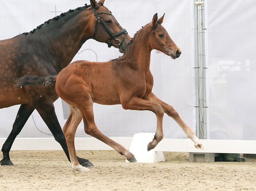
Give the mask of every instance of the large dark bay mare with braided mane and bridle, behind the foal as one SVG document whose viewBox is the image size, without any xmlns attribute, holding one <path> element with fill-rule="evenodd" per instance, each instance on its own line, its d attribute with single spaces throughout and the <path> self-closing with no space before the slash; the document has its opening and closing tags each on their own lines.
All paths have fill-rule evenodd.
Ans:
<svg viewBox="0 0 256 191">
<path fill-rule="evenodd" d="M 21 104 L 12 131 L 2 147 L 1 165 L 13 165 L 9 151 L 28 117 L 36 109 L 68 159 L 65 136 L 57 120 L 53 102 L 58 98 L 54 85 L 43 90 L 38 87 L 14 88 L 24 75 L 57 75 L 68 66 L 88 39 L 107 43 L 124 52 L 131 38 L 117 22 L 104 0 L 90 0 L 75 10 L 61 13 L 29 33 L 0 41 L 0 108 Z M 93 166 L 78 158 L 83 166 Z"/>
</svg>

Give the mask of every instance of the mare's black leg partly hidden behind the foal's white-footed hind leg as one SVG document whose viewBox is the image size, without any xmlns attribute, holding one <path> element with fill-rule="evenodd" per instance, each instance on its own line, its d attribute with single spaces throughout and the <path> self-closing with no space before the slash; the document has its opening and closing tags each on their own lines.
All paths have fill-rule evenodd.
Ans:
<svg viewBox="0 0 256 191">
<path fill-rule="evenodd" d="M 38 111 L 43 121 L 46 123 L 47 127 L 49 128 L 52 135 L 54 136 L 55 140 L 61 145 L 63 151 L 65 152 L 66 156 L 70 161 L 67 142 L 66 142 L 64 133 L 60 127 L 60 124 L 58 122 L 53 103 L 50 100 L 38 100 L 38 101 L 39 102 L 34 102 L 33 106 Z M 41 102 L 43 102 L 43 104 L 41 104 Z M 94 166 L 87 159 L 78 158 L 78 160 L 79 160 L 79 163 L 83 166 L 86 166 L 86 167 Z"/>
</svg>

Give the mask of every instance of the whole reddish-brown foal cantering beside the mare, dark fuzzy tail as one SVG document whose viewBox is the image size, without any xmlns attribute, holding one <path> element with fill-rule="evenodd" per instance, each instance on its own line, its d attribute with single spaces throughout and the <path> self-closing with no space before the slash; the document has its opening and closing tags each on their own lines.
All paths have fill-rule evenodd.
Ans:
<svg viewBox="0 0 256 191">
<path fill-rule="evenodd" d="M 150 110 L 156 114 L 157 124 L 153 140 L 147 150 L 155 148 L 163 138 L 163 114 L 172 117 L 182 128 L 195 147 L 203 145 L 195 133 L 180 118 L 177 111 L 152 93 L 153 76 L 149 70 L 150 53 L 153 49 L 161 51 L 172 59 L 180 56 L 181 51 L 171 40 L 161 25 L 164 15 L 140 29 L 131 40 L 123 57 L 108 62 L 76 61 L 57 76 L 24 76 L 17 86 L 47 86 L 55 82 L 57 94 L 70 106 L 71 113 L 63 127 L 72 163 L 72 168 L 80 171 L 89 169 L 79 164 L 74 144 L 79 123 L 84 121 L 87 134 L 108 144 L 117 152 L 125 155 L 130 162 L 136 162 L 134 155 L 124 146 L 102 134 L 94 121 L 93 102 L 113 105 L 122 104 L 124 109 Z M 145 148 L 146 149 L 146 148 Z"/>
</svg>

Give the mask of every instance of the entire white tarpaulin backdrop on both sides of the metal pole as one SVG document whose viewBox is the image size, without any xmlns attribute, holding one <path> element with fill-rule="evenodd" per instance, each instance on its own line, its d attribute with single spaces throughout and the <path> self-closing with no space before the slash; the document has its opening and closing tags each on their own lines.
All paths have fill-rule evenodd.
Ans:
<svg viewBox="0 0 256 191">
<path fill-rule="evenodd" d="M 256 140 L 256 2 L 255 0 L 206 0 L 206 89 L 207 138 Z M 44 21 L 90 4 L 89 0 L 0 0 L 0 39 L 29 32 Z M 153 92 L 170 103 L 195 131 L 194 75 L 194 1 L 193 0 L 106 0 L 108 7 L 132 37 L 149 23 L 152 16 L 165 13 L 163 26 L 182 54 L 172 60 L 152 51 Z M 164 5 L 164 6 L 163 6 Z M 88 50 L 89 49 L 89 50 Z M 106 44 L 87 41 L 74 60 L 107 61 L 121 54 Z M 55 103 L 60 125 L 69 110 L 61 99 Z M 11 131 L 19 106 L 0 109 L 0 137 Z M 155 114 L 150 111 L 123 110 L 121 105 L 94 105 L 95 120 L 107 136 L 133 136 L 155 132 Z M 164 138 L 186 138 L 173 119 L 164 116 Z M 42 132 L 40 132 L 42 131 Z M 45 123 L 34 111 L 18 137 L 51 137 Z M 88 137 L 80 124 L 76 137 Z"/>
</svg>

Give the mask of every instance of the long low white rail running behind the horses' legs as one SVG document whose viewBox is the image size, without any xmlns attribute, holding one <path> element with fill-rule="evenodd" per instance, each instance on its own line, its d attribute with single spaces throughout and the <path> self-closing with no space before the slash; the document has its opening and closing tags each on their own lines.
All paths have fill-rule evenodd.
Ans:
<svg viewBox="0 0 256 191">
<path fill-rule="evenodd" d="M 112 137 L 114 141 L 130 148 L 132 137 Z M 6 138 L 0 138 L 0 146 Z M 190 139 L 163 139 L 154 149 L 168 152 L 245 153 L 256 154 L 256 140 L 201 140 L 203 150 L 196 149 Z M 113 150 L 96 138 L 75 138 L 77 150 Z M 62 150 L 54 138 L 16 138 L 11 150 Z"/>
</svg>

